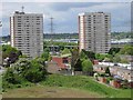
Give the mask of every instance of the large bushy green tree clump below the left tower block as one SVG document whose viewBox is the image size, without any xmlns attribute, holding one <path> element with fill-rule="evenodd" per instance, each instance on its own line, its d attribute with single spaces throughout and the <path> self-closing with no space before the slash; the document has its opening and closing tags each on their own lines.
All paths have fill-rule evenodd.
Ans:
<svg viewBox="0 0 133 100">
<path fill-rule="evenodd" d="M 23 81 L 39 82 L 45 79 L 47 70 L 44 59 L 35 58 L 33 60 L 20 59 L 8 68 L 3 74 L 6 84 L 21 84 Z"/>
</svg>

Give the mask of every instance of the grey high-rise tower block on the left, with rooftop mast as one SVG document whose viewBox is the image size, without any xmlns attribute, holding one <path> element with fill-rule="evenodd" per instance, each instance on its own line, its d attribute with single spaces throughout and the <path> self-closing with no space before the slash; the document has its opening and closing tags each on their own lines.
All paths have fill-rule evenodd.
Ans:
<svg viewBox="0 0 133 100">
<path fill-rule="evenodd" d="M 10 17 L 11 46 L 29 58 L 43 52 L 43 14 L 16 11 Z"/>
</svg>

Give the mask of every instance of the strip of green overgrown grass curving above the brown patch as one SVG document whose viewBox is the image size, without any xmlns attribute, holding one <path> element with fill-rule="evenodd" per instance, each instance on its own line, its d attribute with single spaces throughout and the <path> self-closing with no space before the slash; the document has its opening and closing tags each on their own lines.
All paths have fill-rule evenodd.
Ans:
<svg viewBox="0 0 133 100">
<path fill-rule="evenodd" d="M 106 98 L 131 98 L 131 89 L 113 89 L 111 87 L 98 83 L 92 78 L 84 76 L 50 74 L 45 81 L 41 82 L 41 84 L 88 90 L 105 96 Z"/>
</svg>

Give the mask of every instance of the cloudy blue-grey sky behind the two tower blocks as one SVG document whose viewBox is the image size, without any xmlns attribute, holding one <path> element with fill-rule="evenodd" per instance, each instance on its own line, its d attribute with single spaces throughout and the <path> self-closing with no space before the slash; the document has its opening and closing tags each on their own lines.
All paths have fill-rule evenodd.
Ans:
<svg viewBox="0 0 133 100">
<path fill-rule="evenodd" d="M 10 33 L 9 17 L 14 11 L 21 11 L 21 7 L 24 6 L 25 13 L 43 13 L 43 29 L 44 32 L 50 32 L 50 18 L 53 17 L 53 31 L 54 32 L 78 32 L 78 14 L 81 12 L 109 12 L 111 13 L 111 31 L 130 31 L 131 30 L 131 3 L 117 0 L 117 2 L 43 2 L 42 0 L 32 0 L 32 2 L 21 2 L 24 0 L 12 0 L 10 2 L 4 0 L 0 3 L 0 19 L 2 20 L 2 36 Z M 28 1 L 28 0 L 27 0 Z M 85 0 L 84 0 L 85 1 Z M 0 33 L 1 36 L 1 33 Z"/>
</svg>

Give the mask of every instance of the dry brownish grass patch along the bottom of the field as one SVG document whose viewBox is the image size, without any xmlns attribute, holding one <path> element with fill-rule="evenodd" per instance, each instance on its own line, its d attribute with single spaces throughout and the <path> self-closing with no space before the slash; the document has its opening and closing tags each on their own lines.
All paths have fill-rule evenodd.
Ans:
<svg viewBox="0 0 133 100">
<path fill-rule="evenodd" d="M 2 94 L 3 98 L 102 98 L 98 93 L 85 90 L 35 86 L 12 89 Z"/>
</svg>

